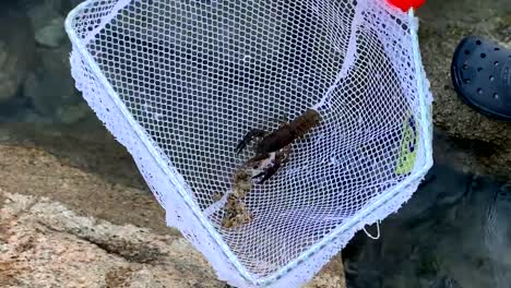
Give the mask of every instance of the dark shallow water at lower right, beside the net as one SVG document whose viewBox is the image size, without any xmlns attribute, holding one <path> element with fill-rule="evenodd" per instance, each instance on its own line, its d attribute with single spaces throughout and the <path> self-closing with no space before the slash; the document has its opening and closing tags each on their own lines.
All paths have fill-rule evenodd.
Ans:
<svg viewBox="0 0 511 288">
<path fill-rule="evenodd" d="M 509 185 L 435 166 L 380 239 L 343 251 L 348 287 L 510 287 L 510 215 Z"/>
</svg>

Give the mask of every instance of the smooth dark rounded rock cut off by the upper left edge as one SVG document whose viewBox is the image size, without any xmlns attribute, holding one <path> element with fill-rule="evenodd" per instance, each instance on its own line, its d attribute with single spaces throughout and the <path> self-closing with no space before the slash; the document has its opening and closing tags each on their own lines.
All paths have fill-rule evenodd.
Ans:
<svg viewBox="0 0 511 288">
<path fill-rule="evenodd" d="M 0 10 L 0 103 L 11 99 L 34 59 L 34 32 L 26 15 Z"/>
</svg>

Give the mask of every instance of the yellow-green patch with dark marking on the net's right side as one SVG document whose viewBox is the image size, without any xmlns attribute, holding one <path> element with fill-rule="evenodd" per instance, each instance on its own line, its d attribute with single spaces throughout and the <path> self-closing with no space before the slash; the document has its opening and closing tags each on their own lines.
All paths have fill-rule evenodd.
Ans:
<svg viewBox="0 0 511 288">
<path fill-rule="evenodd" d="M 403 123 L 403 137 L 401 139 L 400 157 L 395 167 L 396 175 L 412 171 L 417 158 L 418 130 L 413 116 L 406 118 Z"/>
</svg>

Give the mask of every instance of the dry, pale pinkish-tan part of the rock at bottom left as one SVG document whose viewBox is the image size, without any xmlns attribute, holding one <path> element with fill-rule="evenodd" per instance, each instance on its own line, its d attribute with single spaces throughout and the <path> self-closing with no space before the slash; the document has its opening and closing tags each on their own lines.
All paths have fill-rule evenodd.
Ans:
<svg viewBox="0 0 511 288">
<path fill-rule="evenodd" d="M 3 287 L 222 287 L 183 238 L 81 217 L 47 199 L 3 197 Z"/>
</svg>

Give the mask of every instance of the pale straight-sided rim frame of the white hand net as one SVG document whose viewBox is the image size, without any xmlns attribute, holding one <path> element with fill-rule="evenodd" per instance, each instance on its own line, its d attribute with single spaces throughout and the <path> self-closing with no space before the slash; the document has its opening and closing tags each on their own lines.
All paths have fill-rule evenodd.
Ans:
<svg viewBox="0 0 511 288">
<path fill-rule="evenodd" d="M 124 118 L 123 120 L 128 121 L 128 123 L 131 127 L 140 127 L 140 124 L 133 119 L 132 115 L 128 111 L 126 105 L 121 101 L 117 92 L 114 91 L 112 86 L 110 85 L 105 74 L 99 69 L 98 64 L 96 63 L 92 55 L 85 48 L 85 45 L 82 43 L 82 39 L 79 38 L 76 33 L 73 31 L 74 19 L 79 16 L 80 12 L 85 10 L 88 4 L 93 3 L 93 1 L 94 0 L 86 0 L 80 3 L 79 5 L 76 5 L 73 10 L 69 12 L 64 21 L 66 32 L 73 45 L 73 48 L 75 48 L 74 50 L 78 51 L 78 53 L 86 60 L 92 72 L 98 79 L 100 85 L 108 92 L 107 97 L 110 98 L 110 100 L 116 105 L 116 109 L 118 109 L 120 115 L 122 115 L 122 117 Z M 129 3 L 130 0 L 124 0 L 121 2 Z M 395 11 L 395 12 L 403 13 L 402 11 Z M 182 200 L 188 206 L 187 208 L 192 211 L 193 215 L 199 220 L 202 228 L 207 231 L 207 235 L 221 248 L 222 253 L 230 261 L 230 264 L 234 265 L 234 267 L 238 271 L 239 275 L 245 280 L 250 283 L 251 285 L 269 286 L 275 283 L 276 280 L 278 280 L 280 278 L 282 278 L 284 275 L 287 275 L 289 272 L 292 272 L 296 267 L 298 267 L 300 264 L 302 264 L 307 259 L 311 257 L 318 251 L 325 249 L 326 245 L 334 242 L 336 239 L 341 238 L 343 233 L 360 230 L 361 227 L 368 224 L 367 220 L 360 220 L 360 219 L 372 214 L 375 211 L 381 208 L 382 206 L 385 205 L 385 203 L 394 200 L 395 196 L 402 191 L 403 188 L 409 185 L 413 182 L 416 182 L 417 180 L 424 179 L 427 171 L 432 167 L 432 164 L 433 164 L 432 155 L 431 155 L 431 149 L 432 149 L 431 141 L 432 140 L 430 136 L 430 131 L 427 127 L 427 123 L 429 124 L 431 122 L 431 116 L 427 111 L 428 105 L 426 103 L 426 94 L 425 94 L 425 91 L 427 89 L 427 87 L 425 86 L 425 83 L 423 82 L 423 75 L 420 74 L 423 71 L 421 70 L 423 64 L 421 64 L 421 59 L 420 59 L 420 53 L 419 53 L 419 48 L 418 48 L 417 24 L 416 24 L 416 19 L 414 15 L 414 10 L 413 9 L 408 10 L 407 15 L 408 15 L 408 21 L 411 23 L 409 36 L 412 37 L 412 44 L 413 44 L 414 62 L 415 62 L 414 64 L 417 68 L 415 73 L 416 73 L 417 92 L 418 92 L 420 111 L 421 111 L 420 122 L 423 124 L 420 127 L 421 127 L 421 132 L 425 135 L 424 137 L 421 137 L 423 139 L 421 144 L 424 145 L 425 155 L 426 155 L 425 165 L 420 169 L 415 170 L 413 175 L 408 176 L 405 180 L 401 181 L 393 189 L 387 191 L 385 194 L 377 197 L 372 203 L 367 205 L 365 208 L 360 209 L 353 218 L 348 219 L 343 225 L 340 225 L 336 228 L 334 228 L 330 233 L 323 237 L 320 241 L 311 245 L 306 251 L 301 252 L 295 260 L 288 262 L 278 271 L 272 273 L 270 276 L 266 276 L 262 279 L 257 279 L 253 275 L 248 273 L 248 271 L 241 265 L 241 263 L 236 257 L 236 255 L 227 247 L 225 241 L 222 239 L 221 235 L 211 225 L 210 220 L 207 220 L 204 217 L 203 213 L 200 212 L 199 206 L 193 202 L 193 200 L 190 196 L 191 193 L 187 194 L 190 192 L 190 188 L 188 187 L 186 181 L 182 179 L 182 177 L 180 177 L 180 173 L 176 169 L 174 169 L 171 161 L 169 159 L 164 158 L 166 157 L 165 155 L 162 155 L 161 153 L 158 153 L 154 143 L 152 143 L 148 136 L 142 132 L 143 131 L 142 128 L 134 129 L 135 131 L 133 132 L 135 132 L 135 135 L 144 144 L 143 148 L 147 149 L 153 160 L 157 163 L 157 166 L 158 166 L 157 168 L 162 170 L 163 173 L 166 177 L 168 177 L 170 182 L 177 188 L 177 192 L 179 193 L 179 195 L 182 197 Z M 92 35 L 88 38 L 93 38 L 94 36 L 95 35 Z M 173 170 L 171 168 L 174 169 L 174 171 L 171 171 Z M 167 197 L 167 195 L 165 195 L 165 197 Z M 166 200 L 164 200 L 164 202 Z M 165 205 L 163 203 L 161 203 L 161 205 L 165 208 Z M 392 213 L 393 212 L 390 212 L 390 213 L 385 212 L 381 216 L 381 218 L 384 218 Z"/>
</svg>

